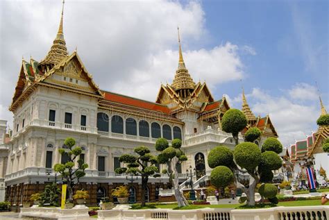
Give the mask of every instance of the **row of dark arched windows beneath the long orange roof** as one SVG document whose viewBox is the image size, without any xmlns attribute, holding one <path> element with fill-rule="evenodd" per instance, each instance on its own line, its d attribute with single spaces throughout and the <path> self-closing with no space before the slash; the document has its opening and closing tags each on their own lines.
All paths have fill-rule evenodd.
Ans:
<svg viewBox="0 0 329 220">
<path fill-rule="evenodd" d="M 101 131 L 109 131 L 109 118 L 106 113 L 97 113 L 97 128 Z M 137 122 L 133 118 L 128 118 L 126 123 L 126 135 L 137 135 Z M 138 129 L 140 131 L 140 136 L 150 137 L 149 122 L 141 120 L 138 122 Z M 112 133 L 124 133 L 124 119 L 119 115 L 113 115 L 111 118 L 111 132 Z M 172 133 L 174 135 L 172 135 Z M 153 122 L 151 123 L 151 137 L 159 138 L 161 137 L 160 124 Z M 162 137 L 165 139 L 172 139 L 172 137 L 182 139 L 182 131 L 178 126 L 174 126 L 171 131 L 171 127 L 167 124 L 162 126 Z"/>
</svg>

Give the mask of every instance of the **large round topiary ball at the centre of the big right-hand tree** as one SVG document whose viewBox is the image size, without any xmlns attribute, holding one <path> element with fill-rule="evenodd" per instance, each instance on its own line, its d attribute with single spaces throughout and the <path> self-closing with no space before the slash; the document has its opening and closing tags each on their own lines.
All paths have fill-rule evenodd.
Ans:
<svg viewBox="0 0 329 220">
<path fill-rule="evenodd" d="M 260 164 L 262 153 L 259 147 L 251 142 L 237 144 L 233 151 L 235 162 L 242 168 L 249 171 Z"/>
</svg>

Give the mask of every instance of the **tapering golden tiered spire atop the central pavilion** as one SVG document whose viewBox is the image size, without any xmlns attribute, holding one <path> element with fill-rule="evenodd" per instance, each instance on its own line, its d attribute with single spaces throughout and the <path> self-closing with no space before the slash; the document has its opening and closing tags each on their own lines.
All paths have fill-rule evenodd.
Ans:
<svg viewBox="0 0 329 220">
<path fill-rule="evenodd" d="M 177 90 L 194 90 L 195 83 L 191 76 L 189 75 L 189 71 L 185 67 L 185 62 L 183 60 L 182 46 L 180 45 L 180 35 L 179 35 L 179 27 L 178 30 L 178 45 L 179 45 L 179 58 L 178 58 L 178 69 L 175 74 L 175 78 L 173 83 L 171 84 L 174 89 Z"/>
</svg>

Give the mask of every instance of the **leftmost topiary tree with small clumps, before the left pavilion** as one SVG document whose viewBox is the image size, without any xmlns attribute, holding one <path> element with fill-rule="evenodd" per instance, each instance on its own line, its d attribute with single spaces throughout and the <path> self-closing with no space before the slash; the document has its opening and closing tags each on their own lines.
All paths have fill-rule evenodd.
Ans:
<svg viewBox="0 0 329 220">
<path fill-rule="evenodd" d="M 79 183 L 81 177 L 85 176 L 85 169 L 88 168 L 88 164 L 84 163 L 83 160 L 78 160 L 78 167 L 74 167 L 76 159 L 82 153 L 82 149 L 80 146 L 76 145 L 76 140 L 71 137 L 67 137 L 65 139 L 64 144 L 67 148 L 65 149 L 58 149 L 60 155 L 67 155 L 67 162 L 65 164 L 55 164 L 53 169 L 58 172 L 63 180 L 67 183 L 67 191 L 68 200 L 70 202 L 73 201 L 73 187 L 76 183 Z M 74 147 L 75 146 L 75 147 Z M 76 180 L 76 183 L 74 182 Z"/>
</svg>

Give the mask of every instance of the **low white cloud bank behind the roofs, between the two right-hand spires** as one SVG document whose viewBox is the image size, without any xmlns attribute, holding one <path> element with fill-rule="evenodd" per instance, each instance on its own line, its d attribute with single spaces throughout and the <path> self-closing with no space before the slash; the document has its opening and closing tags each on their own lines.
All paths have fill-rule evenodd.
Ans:
<svg viewBox="0 0 329 220">
<path fill-rule="evenodd" d="M 273 96 L 269 92 L 260 88 L 253 88 L 251 94 L 247 94 L 248 103 L 255 115 L 262 117 L 269 114 L 271 121 L 280 136 L 282 144 L 287 146 L 293 144 L 297 139 L 305 139 L 312 131 L 317 129 L 317 118 L 320 115 L 319 101 L 317 97 L 305 99 L 305 103 L 296 100 L 294 88 L 301 83 L 293 86 L 292 90 L 279 96 Z M 302 83 L 304 87 L 312 87 Z M 298 94 L 298 93 L 297 93 Z"/>
</svg>

